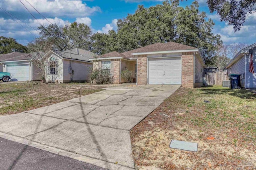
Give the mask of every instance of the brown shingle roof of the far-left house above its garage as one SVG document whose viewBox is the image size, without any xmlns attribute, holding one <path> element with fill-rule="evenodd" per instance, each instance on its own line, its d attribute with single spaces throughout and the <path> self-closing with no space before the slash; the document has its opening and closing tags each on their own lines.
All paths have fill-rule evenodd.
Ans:
<svg viewBox="0 0 256 170">
<path fill-rule="evenodd" d="M 31 58 L 31 54 L 12 52 L 8 54 L 0 55 L 0 61 L 19 61 L 19 60 L 28 60 Z"/>
</svg>

